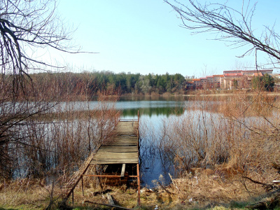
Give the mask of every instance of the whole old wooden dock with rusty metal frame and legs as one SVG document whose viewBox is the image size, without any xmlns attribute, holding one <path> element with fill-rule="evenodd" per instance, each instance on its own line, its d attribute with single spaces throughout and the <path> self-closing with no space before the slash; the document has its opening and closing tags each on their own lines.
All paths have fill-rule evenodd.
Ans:
<svg viewBox="0 0 280 210">
<path fill-rule="evenodd" d="M 104 173 L 109 166 L 121 165 L 121 172 L 116 174 Z M 90 166 L 95 167 L 95 173 L 89 174 L 87 170 Z M 102 167 L 102 172 L 97 172 L 97 167 Z M 130 166 L 127 167 L 126 166 Z M 133 167 L 131 167 L 133 166 Z M 132 168 L 136 167 L 136 172 Z M 92 171 L 92 170 L 91 170 Z M 99 146 L 99 149 L 93 154 L 80 167 L 79 171 L 73 175 L 73 178 L 67 186 L 67 193 L 65 199 L 67 200 L 72 195 L 73 191 L 82 181 L 83 190 L 83 176 L 95 176 L 99 179 L 104 177 L 114 179 L 131 178 L 137 179 L 138 186 L 138 204 L 140 204 L 140 175 L 139 175 L 139 116 L 138 119 L 120 120 L 112 132 L 111 140 Z M 102 187 L 102 184 L 100 184 Z"/>
</svg>

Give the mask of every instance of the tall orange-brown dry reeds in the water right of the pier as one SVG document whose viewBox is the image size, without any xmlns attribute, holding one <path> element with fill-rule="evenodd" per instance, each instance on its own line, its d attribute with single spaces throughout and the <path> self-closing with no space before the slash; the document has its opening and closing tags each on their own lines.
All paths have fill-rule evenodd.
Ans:
<svg viewBox="0 0 280 210">
<path fill-rule="evenodd" d="M 274 96 L 204 97 L 189 102 L 183 116 L 163 122 L 159 146 L 180 172 L 227 167 L 268 181 L 271 163 L 280 161 L 279 117 Z"/>
</svg>

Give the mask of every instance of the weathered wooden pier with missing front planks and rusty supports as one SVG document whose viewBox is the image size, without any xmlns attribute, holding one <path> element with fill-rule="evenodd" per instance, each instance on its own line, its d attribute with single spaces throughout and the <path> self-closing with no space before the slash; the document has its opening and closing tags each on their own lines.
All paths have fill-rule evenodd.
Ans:
<svg viewBox="0 0 280 210">
<path fill-rule="evenodd" d="M 73 204 L 73 190 L 76 188 L 78 182 L 82 180 L 83 188 L 83 176 L 97 176 L 101 177 L 104 175 L 90 175 L 85 174 L 87 168 L 90 165 L 98 164 L 123 164 L 122 174 L 125 170 L 125 164 L 136 164 L 137 165 L 137 189 L 138 189 L 138 205 L 140 205 L 140 175 L 139 175 L 139 112 L 138 120 L 120 120 L 118 125 L 113 130 L 113 141 L 109 144 L 100 146 L 97 152 L 91 153 L 87 160 L 80 167 L 78 172 L 73 174 L 71 181 L 67 183 L 65 188 L 66 195 L 64 196 L 63 202 L 69 198 L 72 194 Z M 115 175 L 116 176 L 116 175 Z M 117 176 L 116 176 L 117 177 Z M 131 176 L 132 177 L 132 176 Z M 82 189 L 83 190 L 83 189 Z"/>
</svg>

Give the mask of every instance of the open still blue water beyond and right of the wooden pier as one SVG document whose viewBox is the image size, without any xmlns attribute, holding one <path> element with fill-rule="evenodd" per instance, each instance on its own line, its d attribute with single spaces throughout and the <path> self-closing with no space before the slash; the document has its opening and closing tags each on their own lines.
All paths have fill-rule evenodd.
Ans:
<svg viewBox="0 0 280 210">
<path fill-rule="evenodd" d="M 211 105 L 223 102 L 211 100 Z M 70 103 L 71 104 L 71 103 Z M 85 109 L 99 109 L 99 102 L 79 102 Z M 64 107 L 65 106 L 65 107 Z M 112 106 L 122 111 L 122 119 L 137 119 L 139 111 L 140 133 L 140 171 L 142 186 L 154 187 L 153 180 L 169 183 L 171 176 L 176 177 L 174 157 L 166 155 L 159 146 L 162 138 L 162 127 L 167 126 L 172 118 L 185 118 L 196 106 L 204 106 L 204 99 L 197 97 L 120 97 L 117 102 L 106 102 L 106 106 Z M 66 109 L 66 104 L 60 104 Z M 83 109 L 83 108 L 82 108 Z M 195 121 L 195 120 L 194 120 Z"/>
</svg>

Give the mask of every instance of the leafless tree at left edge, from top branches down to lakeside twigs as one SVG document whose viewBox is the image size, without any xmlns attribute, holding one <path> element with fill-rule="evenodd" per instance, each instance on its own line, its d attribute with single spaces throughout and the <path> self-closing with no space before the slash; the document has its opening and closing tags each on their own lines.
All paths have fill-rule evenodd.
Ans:
<svg viewBox="0 0 280 210">
<path fill-rule="evenodd" d="M 29 144 L 26 131 L 38 123 L 35 116 L 53 106 L 52 96 L 48 95 L 47 99 L 35 94 L 29 71 L 58 66 L 34 58 L 33 53 L 39 48 L 80 52 L 71 45 L 73 29 L 66 27 L 56 15 L 56 6 L 55 0 L 0 1 L 1 175 L 12 168 L 19 147 L 34 146 Z"/>
</svg>

